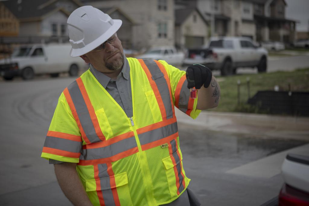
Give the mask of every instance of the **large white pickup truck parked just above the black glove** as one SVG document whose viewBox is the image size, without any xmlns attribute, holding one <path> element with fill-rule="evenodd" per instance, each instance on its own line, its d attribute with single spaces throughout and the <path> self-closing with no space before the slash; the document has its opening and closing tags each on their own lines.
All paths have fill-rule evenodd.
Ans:
<svg viewBox="0 0 309 206">
<path fill-rule="evenodd" d="M 204 64 L 211 70 L 221 70 L 221 75 L 236 73 L 238 67 L 257 67 L 266 72 L 268 52 L 253 44 L 247 37 L 213 37 L 207 48 L 190 49 L 184 64 Z"/>
</svg>

